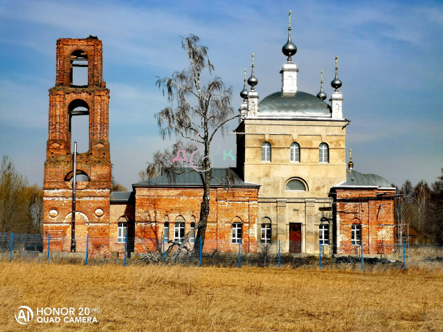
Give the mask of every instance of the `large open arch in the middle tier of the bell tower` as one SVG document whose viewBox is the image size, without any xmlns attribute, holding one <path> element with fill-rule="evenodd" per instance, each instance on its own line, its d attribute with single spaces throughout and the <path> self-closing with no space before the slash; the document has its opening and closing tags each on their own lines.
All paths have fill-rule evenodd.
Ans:
<svg viewBox="0 0 443 332">
<path fill-rule="evenodd" d="M 77 152 L 89 150 L 89 105 L 84 100 L 76 99 L 69 104 L 69 133 L 71 134 L 71 151 L 77 142 Z"/>
</svg>

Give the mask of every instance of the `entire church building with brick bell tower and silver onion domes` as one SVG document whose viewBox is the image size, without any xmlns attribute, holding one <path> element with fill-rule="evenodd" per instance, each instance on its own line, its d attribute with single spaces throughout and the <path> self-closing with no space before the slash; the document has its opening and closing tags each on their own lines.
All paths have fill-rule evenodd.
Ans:
<svg viewBox="0 0 443 332">
<path fill-rule="evenodd" d="M 214 168 L 204 250 L 389 254 L 395 245 L 395 187 L 381 176 L 354 170 L 345 158 L 342 82 L 326 102 L 320 92 L 298 90 L 296 45 L 289 37 L 281 88 L 259 102 L 258 80 L 241 92 L 237 165 Z M 270 64 L 271 65 L 271 64 Z M 87 68 L 87 85 L 73 71 Z M 118 92 L 117 92 L 118 93 Z M 180 241 L 199 221 L 203 187 L 195 172 L 165 174 L 134 183 L 132 192 L 111 192 L 109 89 L 102 80 L 102 43 L 96 37 L 57 41 L 57 78 L 49 91 L 49 136 L 44 170 L 44 237 L 51 250 L 107 248 L 123 252 L 162 250 Z M 89 151 L 73 165 L 71 120 L 89 116 Z M 73 169 L 76 169 L 74 174 Z M 73 211 L 75 213 L 73 214 Z M 75 227 L 72 227 L 74 225 Z M 189 246 L 195 241 L 189 240 Z M 45 241 L 47 248 L 48 241 Z"/>
</svg>

